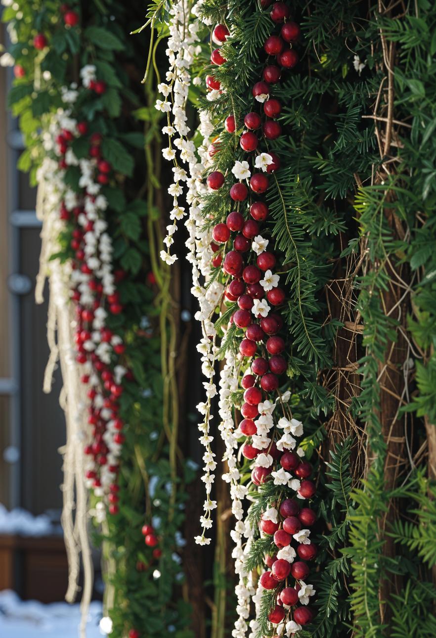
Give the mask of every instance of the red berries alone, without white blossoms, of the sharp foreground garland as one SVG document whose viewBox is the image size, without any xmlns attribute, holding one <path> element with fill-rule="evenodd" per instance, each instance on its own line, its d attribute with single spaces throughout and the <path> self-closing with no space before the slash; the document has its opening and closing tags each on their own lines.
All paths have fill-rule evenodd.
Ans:
<svg viewBox="0 0 436 638">
<path fill-rule="evenodd" d="M 267 8 L 270 4 L 271 1 L 264 0 L 262 6 Z M 269 250 L 264 250 L 258 255 L 250 251 L 253 239 L 261 232 L 262 223 L 269 214 L 268 205 L 258 196 L 268 191 L 270 174 L 280 168 L 280 158 L 270 148 L 271 143 L 282 134 L 282 127 L 276 119 L 280 115 L 282 104 L 272 95 L 273 86 L 280 81 L 284 70 L 293 68 L 298 62 L 298 54 L 293 48 L 293 43 L 300 37 L 300 27 L 290 19 L 289 6 L 282 2 L 273 3 L 270 17 L 277 27 L 264 43 L 263 48 L 268 57 L 261 80 L 252 86 L 254 106 L 245 114 L 243 122 L 236 121 L 235 115 L 228 115 L 224 121 L 225 130 L 239 136 L 240 148 L 247 154 L 243 159 L 252 159 L 252 170 L 248 185 L 245 181 L 239 181 L 230 188 L 229 195 L 235 202 L 236 210 L 229 212 L 225 223 L 218 223 L 213 228 L 212 250 L 215 254 L 212 264 L 221 267 L 224 275 L 228 276 L 225 295 L 228 300 L 236 301 L 238 306 L 230 318 L 230 323 L 243 330 L 239 345 L 240 358 L 251 364 L 251 373 L 245 374 L 241 380 L 245 391 L 240 410 L 243 420 L 239 429 L 247 437 L 242 445 L 242 455 L 252 460 L 261 452 L 265 452 L 273 459 L 270 467 L 258 466 L 252 470 L 252 482 L 260 485 L 270 480 L 272 471 L 281 467 L 300 480 L 300 498 L 310 499 L 316 491 L 314 482 L 310 480 L 310 463 L 302 461 L 295 452 L 279 450 L 275 442 L 275 433 L 272 434 L 267 449 L 259 450 L 251 441 L 251 436 L 257 433 L 255 419 L 260 416 L 258 406 L 266 399 L 275 399 L 280 386 L 280 375 L 287 369 L 284 357 L 286 341 L 284 336 L 279 334 L 284 325 L 280 316 L 280 306 L 286 301 L 286 293 L 278 286 L 268 290 L 269 286 L 264 288 L 260 283 L 266 271 L 273 272 L 277 259 Z M 279 33 L 276 33 L 277 30 Z M 215 27 L 212 38 L 215 42 L 222 43 L 228 33 L 226 27 L 219 24 Z M 275 59 L 271 60 L 270 56 Z M 211 60 L 214 64 L 225 62 L 219 49 L 212 52 Z M 210 89 L 219 89 L 219 82 L 209 76 L 207 86 Z M 242 124 L 245 129 L 241 133 Z M 209 149 L 209 154 L 212 156 L 219 152 L 219 149 L 219 141 L 215 141 Z M 254 159 L 261 152 L 267 152 L 272 158 L 266 171 L 254 166 Z M 224 174 L 219 171 L 211 172 L 207 177 L 207 184 L 213 190 L 222 188 L 224 183 Z M 263 228 L 262 232 L 268 232 L 267 228 Z M 271 244 L 272 239 L 269 240 L 268 248 Z M 254 316 L 252 309 L 256 307 L 256 300 L 264 298 L 270 306 L 277 308 L 277 311 L 268 312 L 266 316 Z M 296 542 L 293 535 L 302 530 L 302 526 L 305 528 L 313 525 L 316 514 L 308 507 L 300 509 L 297 501 L 290 498 L 280 503 L 280 498 L 275 501 L 280 520 L 273 523 L 263 519 L 260 529 L 266 535 L 273 535 L 277 551 L 294 542 L 300 560 L 291 563 L 277 559 L 277 554 L 266 556 L 265 563 L 270 570 L 261 576 L 260 582 L 265 589 L 279 588 L 277 605 L 269 615 L 272 623 L 280 623 L 289 614 L 283 606 L 287 605 L 293 607 L 294 621 L 305 625 L 312 619 L 313 612 L 307 606 L 296 606 L 299 601 L 298 591 L 301 589 L 299 582 L 309 574 L 309 567 L 305 561 L 314 559 L 317 550 L 316 545 L 312 543 Z M 291 578 L 294 579 L 293 582 L 290 582 Z"/>
</svg>

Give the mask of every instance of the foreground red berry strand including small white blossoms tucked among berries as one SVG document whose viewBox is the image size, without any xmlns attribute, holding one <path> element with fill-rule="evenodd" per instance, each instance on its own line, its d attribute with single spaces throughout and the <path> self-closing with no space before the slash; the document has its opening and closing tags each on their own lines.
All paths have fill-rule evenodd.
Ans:
<svg viewBox="0 0 436 638">
<path fill-rule="evenodd" d="M 265 9 L 271 2 L 264 0 L 261 4 Z M 317 547 L 310 542 L 307 529 L 315 523 L 316 513 L 309 507 L 300 508 L 298 500 L 289 498 L 289 493 L 293 490 L 298 499 L 310 499 L 316 487 L 310 480 L 311 464 L 302 460 L 303 450 L 293 451 L 296 441 L 291 434 L 301 436 L 302 424 L 292 418 L 287 406 L 286 398 L 289 401 L 289 397 L 285 395 L 289 392 L 280 392 L 280 385 L 284 383 L 280 376 L 287 369 L 284 356 L 286 330 L 282 330 L 286 326 L 280 315 L 280 308 L 286 302 L 286 292 L 278 286 L 279 276 L 274 273 L 276 256 L 266 249 L 271 247 L 272 238 L 265 239 L 261 235 L 261 229 L 268 232 L 268 227 L 262 226 L 268 219 L 269 210 L 258 196 L 268 191 L 270 176 L 280 168 L 280 158 L 270 146 L 282 134 L 282 127 L 276 119 L 282 105 L 272 94 L 284 70 L 293 68 L 298 62 L 293 44 L 300 37 L 300 27 L 290 19 L 291 11 L 286 3 L 274 3 L 270 17 L 277 25 L 274 31 L 279 33 L 272 33 L 264 43 L 267 54 L 265 67 L 251 91 L 255 106 L 243 117 L 245 130 L 239 137 L 240 148 L 246 154 L 243 161 L 236 161 L 236 170 L 232 170 L 236 177 L 240 176 L 240 181 L 229 191 L 235 210 L 229 212 L 225 223 L 214 226 L 212 237 L 215 244 L 212 249 L 217 255 L 212 263 L 221 266 L 228 276 L 225 295 L 238 306 L 229 325 L 233 323 L 236 335 L 241 336 L 240 359 L 246 368 L 240 380 L 244 390 L 240 408 L 243 419 L 238 429 L 247 437 L 241 452 L 245 459 L 252 461 L 263 457 L 261 464 L 254 464 L 251 473 L 254 485 L 260 486 L 272 479 L 277 484 L 277 493 L 270 499 L 270 507 L 263 512 L 259 526 L 264 537 L 272 537 L 276 550 L 272 556 L 265 556 L 268 569 L 260 577 L 258 593 L 275 591 L 277 603 L 273 602 L 268 619 L 273 625 L 283 623 L 277 634 L 291 635 L 314 616 L 307 606 L 314 590 L 305 579 L 310 572 L 307 561 L 315 558 Z M 223 43 L 228 35 L 227 27 L 219 24 L 215 26 L 212 39 Z M 212 52 L 211 61 L 219 66 L 226 62 L 219 49 Z M 219 89 L 220 84 L 208 76 L 207 87 Z M 240 126 L 242 122 L 236 121 L 234 114 L 228 115 L 224 121 L 228 133 L 239 135 Z M 219 144 L 211 145 L 209 152 L 211 156 L 219 153 Z M 251 160 L 251 170 L 245 161 L 247 159 Z M 256 170 L 259 168 L 261 170 Z M 219 171 L 211 172 L 207 177 L 207 184 L 212 190 L 221 189 L 224 181 L 224 175 Z M 219 251 L 220 245 L 223 246 L 222 251 Z M 276 311 L 270 312 L 272 308 Z M 268 420 L 277 406 L 282 407 L 284 417 L 278 424 L 272 425 L 270 438 L 265 438 L 265 431 L 260 432 L 263 420 Z M 272 418 L 270 422 L 272 424 Z M 279 428 L 283 429 L 283 436 Z M 297 556 L 298 560 L 294 561 Z M 254 600 L 259 612 L 258 595 Z M 259 629 L 259 626 L 255 623 L 254 628 Z"/>
</svg>

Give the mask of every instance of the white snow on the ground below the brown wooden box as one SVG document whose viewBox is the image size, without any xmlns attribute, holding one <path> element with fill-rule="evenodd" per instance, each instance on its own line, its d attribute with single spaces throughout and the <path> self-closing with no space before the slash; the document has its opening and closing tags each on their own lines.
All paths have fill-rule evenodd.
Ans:
<svg viewBox="0 0 436 638">
<path fill-rule="evenodd" d="M 87 638 L 101 638 L 101 602 L 89 610 Z M 78 638 L 80 607 L 66 602 L 44 605 L 20 600 L 15 591 L 0 591 L 0 636 L 2 638 Z"/>
</svg>

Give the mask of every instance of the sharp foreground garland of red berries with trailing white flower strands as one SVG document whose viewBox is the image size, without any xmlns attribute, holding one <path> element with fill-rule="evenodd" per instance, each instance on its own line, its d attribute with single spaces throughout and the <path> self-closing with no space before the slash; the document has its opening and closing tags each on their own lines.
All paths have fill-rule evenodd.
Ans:
<svg viewBox="0 0 436 638">
<path fill-rule="evenodd" d="M 262 4 L 266 7 L 270 3 Z M 196 5 L 194 11 L 201 14 L 201 3 Z M 190 249 L 189 260 L 193 263 L 193 293 L 198 297 L 201 309 L 200 313 L 197 313 L 197 318 L 200 318 L 202 322 L 205 320 L 208 322 L 207 330 L 203 329 L 204 338 L 198 348 L 203 353 L 203 357 L 207 358 L 203 360 L 203 364 L 207 362 L 208 373 L 210 365 L 213 366 L 215 360 L 217 334 L 210 323 L 214 309 L 210 307 L 210 304 L 205 303 L 207 300 L 205 297 L 208 293 L 208 279 L 215 268 L 221 268 L 224 276 L 214 278 L 212 286 L 217 286 L 217 281 L 221 281 L 221 285 L 226 286 L 224 299 L 237 302 L 238 308 L 231 315 L 229 327 L 234 324 L 236 334 L 242 334 L 238 357 L 229 351 L 224 355 L 226 363 L 219 383 L 219 415 L 221 417 L 219 430 L 226 445 L 224 461 L 227 461 L 229 466 L 229 471 L 223 475 L 223 479 L 231 486 L 232 512 L 236 519 L 235 529 L 231 532 L 235 542 L 233 550 L 235 569 L 239 575 L 236 587 L 238 619 L 232 632 L 235 638 L 245 637 L 249 627 L 251 630 L 249 638 L 258 638 L 260 635 L 258 616 L 265 590 L 277 590 L 277 605 L 268 615 L 275 636 L 291 636 L 311 621 L 313 612 L 307 605 L 315 593 L 312 585 L 305 582 L 309 575 L 309 567 L 305 561 L 310 561 L 316 556 L 316 545 L 310 541 L 308 529 L 316 521 L 316 514 L 309 507 L 300 509 L 298 500 L 293 500 L 289 496 L 296 493 L 298 499 L 310 499 L 314 496 L 316 488 L 309 480 L 312 466 L 302 460 L 304 452 L 297 444 L 297 438 L 303 435 L 302 423 L 293 418 L 289 408 L 290 392 L 282 393 L 279 389 L 279 377 L 287 369 L 286 359 L 282 355 L 286 342 L 278 334 L 283 327 L 282 317 L 279 313 L 274 313 L 273 309 L 279 309 L 284 304 L 286 293 L 279 287 L 279 274 L 274 272 L 276 258 L 271 251 L 272 239 L 268 238 L 267 228 L 261 231 L 261 223 L 268 217 L 268 206 L 261 198 L 256 197 L 267 191 L 270 174 L 280 168 L 280 158 L 270 149 L 270 144 L 282 132 L 279 122 L 275 119 L 280 114 L 281 104 L 279 100 L 271 96 L 271 93 L 273 93 L 273 85 L 279 82 L 284 70 L 293 68 L 298 62 L 298 54 L 293 48 L 293 43 L 298 41 L 300 27 L 290 20 L 289 7 L 285 3 L 274 3 L 270 15 L 273 23 L 280 26 L 280 35 L 269 36 L 264 48 L 268 56 L 276 57 L 277 64 L 268 59 L 262 78 L 252 87 L 252 98 L 257 107 L 255 106 L 252 112 L 245 115 L 243 122 L 245 131 L 240 135 L 242 123 L 236 122 L 233 114 L 228 114 L 225 119 L 226 131 L 240 136 L 242 151 L 252 155 L 248 156 L 251 161 L 237 159 L 231 168 L 231 174 L 237 180 L 230 189 L 230 197 L 235 202 L 235 211 L 228 214 L 225 222 L 214 226 L 212 238 L 208 237 L 203 230 L 205 220 L 201 217 L 203 207 L 201 195 L 205 193 L 205 188 L 199 181 L 199 177 L 210 166 L 210 157 L 219 153 L 220 150 L 219 138 L 214 139 L 214 143 L 208 147 L 208 158 L 205 157 L 204 149 L 207 147 L 208 138 L 215 131 L 205 112 L 200 112 L 202 124 L 205 121 L 208 124 L 202 130 L 204 139 L 200 148 L 200 157 L 203 163 L 201 166 L 197 165 L 192 157 L 189 163 L 191 175 L 189 194 L 193 191 L 193 184 L 195 184 L 195 193 L 193 200 L 188 198 L 191 208 L 186 225 L 191 231 L 191 237 L 187 244 Z M 203 18 L 202 20 L 205 24 L 210 24 L 210 20 Z M 212 32 L 212 40 L 221 45 L 229 35 L 228 28 L 224 24 L 219 24 Z M 215 49 L 212 51 L 211 61 L 212 64 L 221 66 L 226 60 L 221 51 Z M 206 84 L 208 100 L 215 100 L 222 91 L 219 81 L 208 76 Z M 162 105 L 158 104 L 158 107 L 161 108 Z M 166 128 L 164 132 L 166 130 L 168 131 Z M 259 131 L 263 135 L 259 136 Z M 187 131 L 184 131 L 183 134 L 186 133 Z M 181 142 L 178 141 L 178 144 L 181 145 Z M 265 150 L 260 148 L 261 145 L 265 146 Z M 164 155 L 168 154 L 168 150 L 164 149 Z M 173 159 L 173 156 L 170 159 Z M 210 172 L 207 176 L 208 191 L 219 190 L 224 182 L 225 177 L 221 172 Z M 249 190 L 252 195 L 247 207 Z M 249 208 L 248 215 L 244 214 L 247 208 Z M 174 210 L 171 211 L 171 219 L 175 219 Z M 163 251 L 161 257 L 167 263 L 172 263 L 176 257 L 170 256 L 169 247 L 172 243 L 171 237 L 175 231 L 175 223 L 171 228 L 168 227 L 168 230 L 169 235 L 166 238 L 168 250 Z M 213 255 L 207 251 L 205 245 L 210 239 L 212 242 L 209 245 Z M 233 249 L 229 246 L 231 240 L 233 240 Z M 205 256 L 208 257 L 208 261 L 205 261 Z M 199 283 L 199 274 L 201 274 L 203 286 Z M 209 302 L 211 300 L 208 299 Z M 215 300 L 215 307 L 221 304 L 222 297 Z M 223 312 L 226 307 L 224 305 Z M 225 338 L 224 330 L 222 339 Z M 259 346 L 261 355 L 256 357 Z M 209 388 L 214 387 L 212 379 L 213 372 L 208 382 Z M 243 404 L 240 406 L 243 420 L 235 429 L 234 402 L 231 394 L 237 392 L 238 380 L 245 392 Z M 206 423 L 211 417 L 210 398 L 206 404 L 200 404 L 199 408 L 206 415 Z M 249 494 L 249 486 L 241 484 L 242 475 L 238 469 L 236 450 L 244 436 L 245 442 L 240 446 L 239 452 L 245 459 L 253 461 L 251 464 L 252 485 L 260 486 L 266 480 L 272 480 L 277 486 L 277 494 L 270 499 L 270 507 L 263 512 L 260 523 L 261 535 L 273 537 L 277 554 L 272 557 L 266 556 L 266 567 L 270 570 L 263 572 L 256 590 L 252 573 L 247 572 L 244 567 L 256 537 L 256 530 L 251 528 L 249 519 L 243 519 L 242 503 Z M 210 440 L 207 430 L 207 440 L 203 437 L 202 442 L 208 446 L 208 455 Z M 215 464 L 212 469 L 215 469 Z M 207 484 L 208 498 L 210 478 L 208 473 L 203 477 Z M 215 507 L 214 501 L 212 503 Z M 205 528 L 210 528 L 212 525 L 210 510 L 207 511 L 207 517 L 201 519 L 203 534 L 196 537 L 196 542 L 199 544 L 210 542 L 210 539 L 205 538 Z M 293 542 L 296 543 L 296 549 L 292 545 Z M 297 554 L 298 559 L 301 560 L 294 560 Z M 290 586 L 291 578 L 294 579 L 294 586 Z M 282 587 L 282 584 L 285 584 L 285 587 Z M 256 618 L 252 619 L 248 625 L 251 598 L 256 607 Z"/>
</svg>

